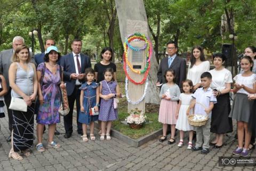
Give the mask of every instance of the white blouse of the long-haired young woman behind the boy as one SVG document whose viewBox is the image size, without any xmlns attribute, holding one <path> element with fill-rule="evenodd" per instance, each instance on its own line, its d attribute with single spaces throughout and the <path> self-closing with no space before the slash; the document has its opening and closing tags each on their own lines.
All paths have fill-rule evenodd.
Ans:
<svg viewBox="0 0 256 171">
<path fill-rule="evenodd" d="M 209 61 L 203 61 L 199 65 L 193 65 L 190 68 L 190 64 L 188 66 L 188 75 L 187 79 L 191 80 L 193 84 L 197 84 L 201 82 L 201 74 L 210 70 L 210 62 Z"/>
</svg>

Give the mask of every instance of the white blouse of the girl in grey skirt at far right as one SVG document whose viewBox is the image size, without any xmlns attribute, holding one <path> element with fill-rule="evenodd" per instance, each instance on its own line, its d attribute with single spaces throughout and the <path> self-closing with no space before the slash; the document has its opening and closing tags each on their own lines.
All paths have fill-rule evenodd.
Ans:
<svg viewBox="0 0 256 171">
<path fill-rule="evenodd" d="M 242 74 L 238 74 L 234 77 L 234 81 L 235 83 L 238 83 L 240 85 L 244 84 L 244 86 L 253 89 L 253 84 L 256 81 L 256 74 L 252 74 L 250 76 L 243 76 Z M 239 89 L 237 93 L 244 93 L 246 95 L 249 95 L 249 92 L 244 89 Z"/>
</svg>

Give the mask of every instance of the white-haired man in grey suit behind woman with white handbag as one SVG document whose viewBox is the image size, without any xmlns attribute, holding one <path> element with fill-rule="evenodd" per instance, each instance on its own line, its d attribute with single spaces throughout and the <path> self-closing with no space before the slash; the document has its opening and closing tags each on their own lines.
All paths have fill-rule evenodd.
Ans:
<svg viewBox="0 0 256 171">
<path fill-rule="evenodd" d="M 7 112 L 8 112 L 8 117 L 9 117 L 9 130 L 10 132 L 12 132 L 12 111 L 9 109 L 10 103 L 11 103 L 11 88 L 9 86 L 9 67 L 11 65 L 11 58 L 13 53 L 15 52 L 16 48 L 19 45 L 25 44 L 24 39 L 21 36 L 15 36 L 12 40 L 12 48 L 8 49 L 8 50 L 3 50 L 2 52 L 0 52 L 0 72 L 3 73 L 3 76 L 6 80 L 6 84 L 7 84 L 7 89 L 8 92 L 7 94 L 4 96 L 4 102 L 5 105 L 7 107 Z M 33 54 L 30 53 L 30 55 L 33 58 Z M 31 62 L 34 62 L 34 58 L 31 59 Z M 11 133 L 10 133 L 11 134 Z M 9 136 L 9 138 L 7 138 L 7 142 L 11 141 L 11 135 Z"/>
</svg>

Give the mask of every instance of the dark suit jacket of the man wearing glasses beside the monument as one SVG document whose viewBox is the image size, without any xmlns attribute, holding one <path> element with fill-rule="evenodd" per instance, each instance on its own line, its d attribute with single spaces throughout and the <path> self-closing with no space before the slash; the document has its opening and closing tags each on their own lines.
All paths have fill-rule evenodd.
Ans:
<svg viewBox="0 0 256 171">
<path fill-rule="evenodd" d="M 173 69 L 175 72 L 175 83 L 182 88 L 182 81 L 186 80 L 186 61 L 179 56 L 176 56 L 173 60 L 170 69 Z M 168 57 L 164 57 L 159 65 L 157 72 L 157 81 L 160 83 L 165 83 L 164 73 L 169 69 L 168 66 Z"/>
</svg>

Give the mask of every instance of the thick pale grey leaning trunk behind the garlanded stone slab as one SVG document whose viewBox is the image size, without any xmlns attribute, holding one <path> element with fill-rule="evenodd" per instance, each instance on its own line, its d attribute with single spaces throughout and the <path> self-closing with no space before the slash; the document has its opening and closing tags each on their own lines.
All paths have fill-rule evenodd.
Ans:
<svg viewBox="0 0 256 171">
<path fill-rule="evenodd" d="M 147 15 L 145 11 L 145 5 L 142 0 L 115 0 L 117 15 L 119 21 L 119 29 L 121 32 L 122 42 L 124 42 L 125 37 L 127 36 L 127 20 L 139 20 L 143 22 L 147 22 Z M 141 27 L 137 25 L 139 29 Z M 149 37 L 150 32 L 148 28 L 148 24 L 143 28 L 147 30 L 147 35 Z M 151 58 L 151 68 L 149 71 L 148 79 L 148 91 L 146 93 L 145 102 L 159 104 L 160 99 L 158 98 L 159 89 L 156 87 L 157 82 L 157 70 L 158 64 L 156 62 L 155 53 L 153 52 L 153 56 Z"/>
</svg>

